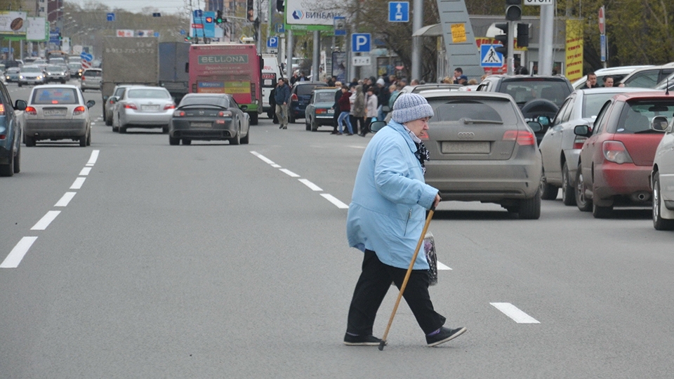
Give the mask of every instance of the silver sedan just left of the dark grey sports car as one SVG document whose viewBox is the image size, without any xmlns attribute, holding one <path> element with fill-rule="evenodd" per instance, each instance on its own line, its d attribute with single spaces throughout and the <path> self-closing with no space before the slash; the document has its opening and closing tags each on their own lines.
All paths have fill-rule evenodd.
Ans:
<svg viewBox="0 0 674 379">
<path fill-rule="evenodd" d="M 126 133 L 127 128 L 161 128 L 169 132 L 169 121 L 176 103 L 166 88 L 129 87 L 114 101 L 112 131 Z"/>
</svg>

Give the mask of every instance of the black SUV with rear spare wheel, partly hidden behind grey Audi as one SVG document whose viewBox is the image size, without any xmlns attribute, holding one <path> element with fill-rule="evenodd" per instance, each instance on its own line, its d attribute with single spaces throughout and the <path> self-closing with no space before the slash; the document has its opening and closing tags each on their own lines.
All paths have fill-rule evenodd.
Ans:
<svg viewBox="0 0 674 379">
<path fill-rule="evenodd" d="M 538 121 L 543 126 L 536 133 L 536 140 L 540 144 L 550 121 L 567 96 L 574 91 L 574 87 L 564 77 L 490 75 L 477 86 L 477 91 L 500 92 L 512 96 L 526 121 Z"/>
</svg>

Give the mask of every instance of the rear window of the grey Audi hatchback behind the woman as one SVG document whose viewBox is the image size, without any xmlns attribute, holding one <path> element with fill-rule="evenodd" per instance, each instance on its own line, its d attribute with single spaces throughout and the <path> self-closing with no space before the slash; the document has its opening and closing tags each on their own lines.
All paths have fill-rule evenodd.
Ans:
<svg viewBox="0 0 674 379">
<path fill-rule="evenodd" d="M 495 99 L 427 99 L 435 116 L 430 121 L 481 121 L 516 124 L 517 113 L 508 100 Z"/>
</svg>

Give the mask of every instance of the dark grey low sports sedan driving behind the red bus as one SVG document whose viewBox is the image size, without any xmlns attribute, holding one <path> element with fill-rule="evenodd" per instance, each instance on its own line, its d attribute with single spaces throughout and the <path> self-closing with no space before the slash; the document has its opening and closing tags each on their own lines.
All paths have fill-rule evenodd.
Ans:
<svg viewBox="0 0 674 379">
<path fill-rule="evenodd" d="M 173 112 L 169 144 L 190 145 L 192 140 L 228 140 L 230 145 L 249 142 L 250 116 L 231 95 L 188 93 Z"/>
</svg>

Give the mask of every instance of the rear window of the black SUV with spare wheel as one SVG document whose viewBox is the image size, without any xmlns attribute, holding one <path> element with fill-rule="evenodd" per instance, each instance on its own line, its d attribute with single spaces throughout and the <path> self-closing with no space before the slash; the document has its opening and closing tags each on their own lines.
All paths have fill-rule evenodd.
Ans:
<svg viewBox="0 0 674 379">
<path fill-rule="evenodd" d="M 515 99 L 515 102 L 520 107 L 529 100 L 540 98 L 550 100 L 557 107 L 561 107 L 564 99 L 571 93 L 571 90 L 564 81 L 521 80 L 503 81 L 499 92 L 508 93 L 508 95 L 513 96 L 513 99 Z"/>
</svg>

